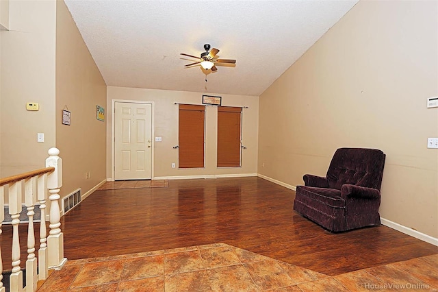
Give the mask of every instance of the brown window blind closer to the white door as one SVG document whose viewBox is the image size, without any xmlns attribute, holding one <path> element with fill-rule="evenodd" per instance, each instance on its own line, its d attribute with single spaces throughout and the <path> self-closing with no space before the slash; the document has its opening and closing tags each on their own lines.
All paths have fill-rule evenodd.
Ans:
<svg viewBox="0 0 438 292">
<path fill-rule="evenodd" d="M 204 167 L 205 106 L 179 105 L 179 168 Z"/>
</svg>

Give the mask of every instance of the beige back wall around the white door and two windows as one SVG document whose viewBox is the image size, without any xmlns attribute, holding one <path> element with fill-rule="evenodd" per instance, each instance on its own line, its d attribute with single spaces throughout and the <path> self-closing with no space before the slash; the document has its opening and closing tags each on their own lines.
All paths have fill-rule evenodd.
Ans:
<svg viewBox="0 0 438 292">
<path fill-rule="evenodd" d="M 243 95 L 222 96 L 222 106 L 248 106 L 243 113 L 243 145 L 242 167 L 216 168 L 216 120 L 217 108 L 207 106 L 205 136 L 205 169 L 172 169 L 171 164 L 178 165 L 178 106 L 177 103 L 201 104 L 203 93 L 155 90 L 141 88 L 107 87 L 107 108 L 111 108 L 112 99 L 137 101 L 154 101 L 154 136 L 162 137 L 162 142 L 154 142 L 154 177 L 179 175 L 222 175 L 257 173 L 257 130 L 258 130 L 258 97 Z M 209 94 L 217 95 L 217 94 Z M 111 162 L 111 127 L 112 110 L 107 111 L 107 178 L 112 178 Z"/>
</svg>

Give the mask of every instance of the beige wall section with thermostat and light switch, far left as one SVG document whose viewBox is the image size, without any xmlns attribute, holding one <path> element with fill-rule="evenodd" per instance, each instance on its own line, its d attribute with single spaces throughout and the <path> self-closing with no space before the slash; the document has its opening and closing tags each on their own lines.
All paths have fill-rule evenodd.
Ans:
<svg viewBox="0 0 438 292">
<path fill-rule="evenodd" d="M 55 146 L 55 10 L 55 1 L 11 0 L 10 31 L 0 30 L 1 177 L 44 167 Z"/>
</svg>

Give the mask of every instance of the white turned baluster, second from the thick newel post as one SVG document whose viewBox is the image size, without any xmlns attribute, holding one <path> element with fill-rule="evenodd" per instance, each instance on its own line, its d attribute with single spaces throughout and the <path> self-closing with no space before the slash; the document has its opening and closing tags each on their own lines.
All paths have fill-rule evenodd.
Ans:
<svg viewBox="0 0 438 292">
<path fill-rule="evenodd" d="M 35 234 L 34 234 L 34 209 L 36 204 L 36 178 L 25 181 L 25 206 L 27 207 L 27 217 L 29 224 L 27 227 L 27 260 L 26 260 L 26 291 L 36 291 L 36 266 L 35 257 Z"/>
</svg>

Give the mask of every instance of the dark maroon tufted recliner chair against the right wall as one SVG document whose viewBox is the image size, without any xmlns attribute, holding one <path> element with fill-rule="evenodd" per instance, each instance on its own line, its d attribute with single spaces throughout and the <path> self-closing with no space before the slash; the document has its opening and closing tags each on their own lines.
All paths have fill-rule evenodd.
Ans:
<svg viewBox="0 0 438 292">
<path fill-rule="evenodd" d="M 294 210 L 332 232 L 379 225 L 384 165 L 381 150 L 339 148 L 326 178 L 304 175 Z"/>
</svg>

